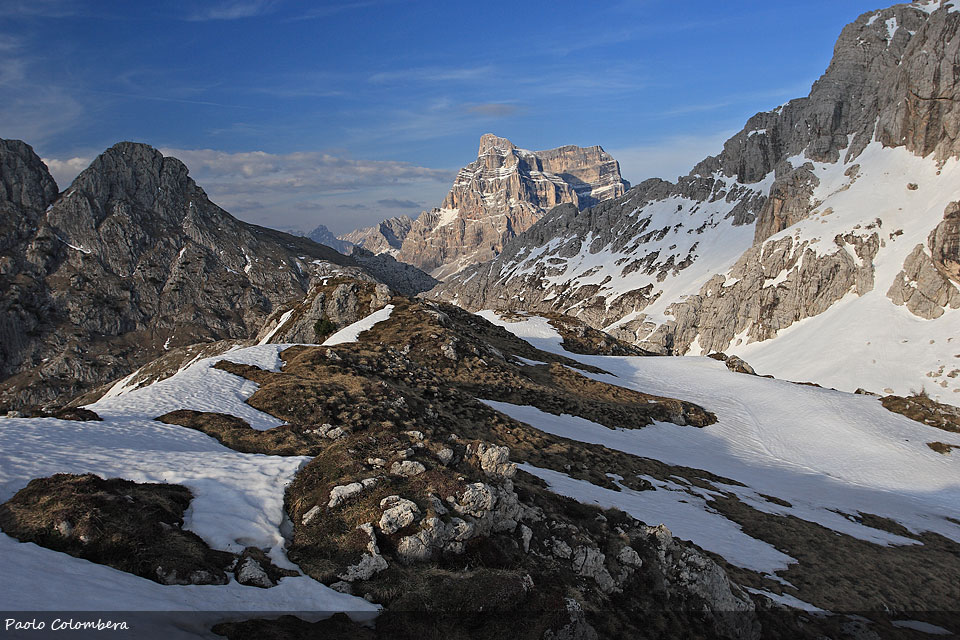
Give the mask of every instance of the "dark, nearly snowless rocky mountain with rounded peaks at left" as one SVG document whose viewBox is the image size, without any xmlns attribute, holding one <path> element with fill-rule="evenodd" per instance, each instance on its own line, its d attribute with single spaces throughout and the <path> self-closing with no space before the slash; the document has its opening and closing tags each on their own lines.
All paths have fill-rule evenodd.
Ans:
<svg viewBox="0 0 960 640">
<path fill-rule="evenodd" d="M 108 149 L 59 194 L 28 145 L 3 141 L 0 182 L 4 410 L 65 402 L 167 349 L 250 338 L 314 271 L 362 272 L 236 220 L 179 160 L 142 144 Z"/>
</svg>

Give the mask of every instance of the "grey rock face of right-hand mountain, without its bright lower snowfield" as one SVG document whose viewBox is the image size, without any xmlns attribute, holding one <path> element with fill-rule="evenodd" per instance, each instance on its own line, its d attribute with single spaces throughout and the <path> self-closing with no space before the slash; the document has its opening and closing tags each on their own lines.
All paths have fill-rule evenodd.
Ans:
<svg viewBox="0 0 960 640">
<path fill-rule="evenodd" d="M 736 336 L 769 339 L 850 291 L 872 290 L 872 260 L 884 242 L 879 222 L 822 238 L 817 247 L 771 236 L 831 214 L 814 198 L 821 186 L 814 163 L 849 163 L 844 190 L 862 179 L 855 162 L 873 140 L 938 160 L 960 152 L 960 80 L 950 66 L 960 50 L 960 14 L 938 7 L 915 2 L 860 16 L 844 28 L 809 96 L 756 114 L 689 175 L 675 184 L 647 180 L 582 212 L 557 206 L 498 257 L 429 295 L 470 310 L 561 311 L 645 349 L 685 353 L 699 344 L 706 353 L 730 347 Z M 960 271 L 958 224 L 956 214 L 945 218 L 926 262 L 905 265 L 891 298 L 912 299 L 908 308 L 926 315 L 952 304 L 945 283 L 957 282 Z M 733 267 L 711 277 L 715 272 L 698 263 L 723 249 L 726 241 L 717 238 L 743 225 L 754 225 L 753 246 L 744 243 L 726 263 Z M 604 266 L 589 271 L 583 262 Z M 903 289 L 918 277 L 920 293 Z M 624 290 L 631 281 L 635 288 Z M 675 281 L 696 285 L 671 289 Z M 654 303 L 673 319 L 648 319 L 644 310 Z"/>
</svg>

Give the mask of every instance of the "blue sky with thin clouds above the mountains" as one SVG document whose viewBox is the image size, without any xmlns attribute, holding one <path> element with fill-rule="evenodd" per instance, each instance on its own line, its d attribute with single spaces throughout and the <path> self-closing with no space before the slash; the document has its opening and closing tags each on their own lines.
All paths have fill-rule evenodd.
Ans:
<svg viewBox="0 0 960 640">
<path fill-rule="evenodd" d="M 61 189 L 120 140 L 277 228 L 437 206 L 486 132 L 674 179 L 808 93 L 880 0 L 0 0 L 0 137 Z"/>
</svg>

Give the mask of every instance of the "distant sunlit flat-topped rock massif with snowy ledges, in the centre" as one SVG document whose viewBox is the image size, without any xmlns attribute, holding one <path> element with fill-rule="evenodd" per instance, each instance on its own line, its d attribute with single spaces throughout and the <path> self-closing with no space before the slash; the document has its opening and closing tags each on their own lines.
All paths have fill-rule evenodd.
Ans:
<svg viewBox="0 0 960 640">
<path fill-rule="evenodd" d="M 386 220 L 344 236 L 371 251 L 443 279 L 496 256 L 504 242 L 529 228 L 551 207 L 578 209 L 615 198 L 629 187 L 620 165 L 600 147 L 528 151 L 485 134 L 477 159 L 460 170 L 439 208 L 409 223 Z"/>
</svg>

